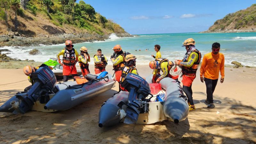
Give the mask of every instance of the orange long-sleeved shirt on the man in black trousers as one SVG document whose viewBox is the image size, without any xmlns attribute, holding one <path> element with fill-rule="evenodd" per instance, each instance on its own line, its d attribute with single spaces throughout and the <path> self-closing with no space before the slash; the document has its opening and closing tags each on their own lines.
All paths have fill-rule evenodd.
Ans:
<svg viewBox="0 0 256 144">
<path fill-rule="evenodd" d="M 224 55 L 218 53 L 217 55 L 212 52 L 205 54 L 200 68 L 200 77 L 216 80 L 219 78 L 219 72 L 221 78 L 224 78 Z"/>
</svg>

